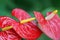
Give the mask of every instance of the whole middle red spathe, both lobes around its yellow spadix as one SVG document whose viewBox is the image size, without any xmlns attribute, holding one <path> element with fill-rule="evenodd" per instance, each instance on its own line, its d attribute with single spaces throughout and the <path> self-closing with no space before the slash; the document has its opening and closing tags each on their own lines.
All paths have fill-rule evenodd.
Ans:
<svg viewBox="0 0 60 40">
<path fill-rule="evenodd" d="M 21 20 L 25 20 L 28 18 L 31 18 L 31 16 L 24 10 L 19 9 L 19 8 L 15 8 L 12 11 L 12 15 L 15 16 L 16 18 L 19 19 L 19 21 Z M 15 29 L 17 28 L 17 33 L 25 39 L 36 39 L 38 38 L 42 32 L 40 31 L 40 29 L 37 27 L 36 23 L 34 21 L 25 23 L 25 24 L 21 24 L 19 23 L 20 26 L 19 27 L 15 27 Z"/>
</svg>

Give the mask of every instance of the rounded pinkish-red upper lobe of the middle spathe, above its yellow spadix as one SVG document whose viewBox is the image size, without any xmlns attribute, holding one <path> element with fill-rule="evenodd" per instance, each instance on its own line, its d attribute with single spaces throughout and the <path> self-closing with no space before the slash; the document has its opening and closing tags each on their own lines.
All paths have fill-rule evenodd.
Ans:
<svg viewBox="0 0 60 40">
<path fill-rule="evenodd" d="M 12 15 L 18 18 L 20 21 L 31 17 L 26 11 L 19 8 L 13 9 Z"/>
</svg>

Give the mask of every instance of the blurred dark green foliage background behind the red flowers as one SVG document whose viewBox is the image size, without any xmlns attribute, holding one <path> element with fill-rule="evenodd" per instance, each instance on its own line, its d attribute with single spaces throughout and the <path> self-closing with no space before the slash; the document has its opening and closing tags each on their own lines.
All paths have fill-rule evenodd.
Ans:
<svg viewBox="0 0 60 40">
<path fill-rule="evenodd" d="M 39 11 L 44 16 L 49 11 L 57 9 L 60 11 L 60 0 L 0 0 L 0 16 L 9 16 L 14 8 L 22 8 L 26 10 L 32 17 L 33 11 Z M 58 12 L 59 14 L 60 12 Z M 17 20 L 16 18 L 14 18 Z M 45 34 L 42 34 L 37 40 L 51 40 Z"/>
</svg>

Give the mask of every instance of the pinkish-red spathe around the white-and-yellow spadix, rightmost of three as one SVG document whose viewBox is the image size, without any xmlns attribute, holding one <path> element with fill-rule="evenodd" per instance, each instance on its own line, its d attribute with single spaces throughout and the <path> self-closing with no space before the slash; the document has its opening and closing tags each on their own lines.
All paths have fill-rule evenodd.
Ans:
<svg viewBox="0 0 60 40">
<path fill-rule="evenodd" d="M 50 20 L 45 20 L 40 12 L 34 12 L 35 17 L 40 25 L 40 29 L 50 38 L 60 40 L 60 18 L 55 15 Z M 48 12 L 47 15 L 51 14 Z"/>
</svg>

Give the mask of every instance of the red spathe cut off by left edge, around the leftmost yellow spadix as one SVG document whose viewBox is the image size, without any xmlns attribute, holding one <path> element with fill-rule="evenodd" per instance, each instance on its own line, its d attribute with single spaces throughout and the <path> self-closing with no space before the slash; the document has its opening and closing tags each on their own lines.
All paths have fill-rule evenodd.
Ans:
<svg viewBox="0 0 60 40">
<path fill-rule="evenodd" d="M 15 21 L 9 17 L 0 16 L 0 28 L 12 26 L 13 22 Z M 10 29 L 0 32 L 0 40 L 21 40 L 21 37 L 13 29 Z"/>
</svg>

